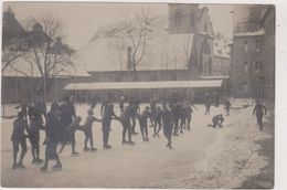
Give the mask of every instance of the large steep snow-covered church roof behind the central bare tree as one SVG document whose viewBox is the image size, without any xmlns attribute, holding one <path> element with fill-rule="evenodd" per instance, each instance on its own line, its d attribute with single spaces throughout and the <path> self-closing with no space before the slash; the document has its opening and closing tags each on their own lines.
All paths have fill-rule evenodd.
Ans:
<svg viewBox="0 0 287 190">
<path fill-rule="evenodd" d="M 144 59 L 137 70 L 184 70 L 193 44 L 193 33 L 169 34 L 168 17 L 150 23 Z M 123 23 L 99 29 L 89 44 L 78 51 L 88 71 L 127 70 L 127 48 L 132 46 Z M 141 52 L 139 50 L 138 52 Z"/>
</svg>

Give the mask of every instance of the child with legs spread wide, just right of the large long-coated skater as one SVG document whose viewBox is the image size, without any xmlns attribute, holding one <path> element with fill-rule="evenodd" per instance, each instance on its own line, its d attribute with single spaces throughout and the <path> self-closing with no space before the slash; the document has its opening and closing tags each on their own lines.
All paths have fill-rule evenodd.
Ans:
<svg viewBox="0 0 287 190">
<path fill-rule="evenodd" d="M 72 154 L 71 154 L 72 157 L 78 155 L 78 152 L 76 152 L 76 150 L 75 150 L 75 147 L 76 147 L 75 133 L 76 133 L 76 130 L 84 130 L 84 126 L 79 125 L 81 120 L 82 120 L 82 117 L 76 116 L 75 120 L 72 124 L 70 124 L 68 127 L 67 127 L 68 141 L 71 141 L 71 144 L 72 144 Z M 62 147 L 61 147 L 59 154 L 61 154 L 63 151 L 66 142 L 67 141 L 64 141 L 62 144 Z"/>
</svg>

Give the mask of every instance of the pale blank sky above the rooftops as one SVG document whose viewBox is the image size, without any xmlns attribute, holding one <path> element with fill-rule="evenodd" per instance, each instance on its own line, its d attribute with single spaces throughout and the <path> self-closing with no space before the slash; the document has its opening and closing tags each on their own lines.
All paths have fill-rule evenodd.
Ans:
<svg viewBox="0 0 287 190">
<path fill-rule="evenodd" d="M 206 6 L 213 23 L 214 32 L 221 32 L 226 38 L 232 36 L 232 6 L 230 4 L 201 4 Z M 139 3 L 73 3 L 73 2 L 4 2 L 3 10 L 10 7 L 20 23 L 26 18 L 41 18 L 52 14 L 63 22 L 65 27 L 65 42 L 76 50 L 81 50 L 93 38 L 98 28 L 116 23 L 127 18 L 127 12 L 139 11 Z M 147 7 L 147 4 L 146 4 Z M 152 15 L 167 15 L 167 3 L 150 3 Z"/>
</svg>

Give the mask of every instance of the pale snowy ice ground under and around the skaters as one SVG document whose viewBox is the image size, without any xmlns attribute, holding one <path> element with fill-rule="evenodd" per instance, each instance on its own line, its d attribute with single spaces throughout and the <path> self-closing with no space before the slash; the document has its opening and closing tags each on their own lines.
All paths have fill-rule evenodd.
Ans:
<svg viewBox="0 0 287 190">
<path fill-rule="evenodd" d="M 145 105 L 142 105 L 144 107 Z M 10 106 L 11 107 L 11 106 Z M 99 112 L 95 115 L 99 117 Z M 11 169 L 11 123 L 1 125 L 1 182 L 4 187 L 91 187 L 91 188 L 234 188 L 248 176 L 259 172 L 266 160 L 258 157 L 254 140 L 269 138 L 258 131 L 251 108 L 232 110 L 224 128 L 206 127 L 212 116 L 204 116 L 202 105 L 194 109 L 192 129 L 174 137 L 173 149 L 166 148 L 166 138 L 149 142 L 140 135 L 134 136 L 135 146 L 121 145 L 121 126 L 113 122 L 110 150 L 102 148 L 100 125 L 94 125 L 96 152 L 83 152 L 83 133 L 76 134 L 78 157 L 71 157 L 71 146 L 61 155 L 62 171 L 40 171 L 31 165 L 31 152 L 24 158 L 25 170 Z M 85 118 L 86 105 L 77 105 L 77 113 Z M 7 112 L 9 108 L 6 109 Z M 12 109 L 10 108 L 10 112 Z M 118 113 L 118 107 L 116 106 Z M 223 113 L 212 107 L 211 115 Z M 139 131 L 139 127 L 137 126 Z M 42 139 L 44 134 L 41 134 Z M 42 141 L 42 140 L 41 140 Z M 28 142 L 30 147 L 30 142 Z M 43 158 L 43 147 L 41 149 Z M 51 162 L 50 166 L 53 163 Z"/>
</svg>

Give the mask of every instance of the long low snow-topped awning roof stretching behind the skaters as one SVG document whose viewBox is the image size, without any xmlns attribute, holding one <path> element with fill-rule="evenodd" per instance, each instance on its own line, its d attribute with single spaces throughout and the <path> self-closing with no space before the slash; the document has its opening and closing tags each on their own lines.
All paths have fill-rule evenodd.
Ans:
<svg viewBox="0 0 287 190">
<path fill-rule="evenodd" d="M 70 83 L 64 89 L 157 89 L 157 88 L 214 88 L 222 80 L 212 81 L 163 81 L 163 82 L 107 82 Z"/>
</svg>

